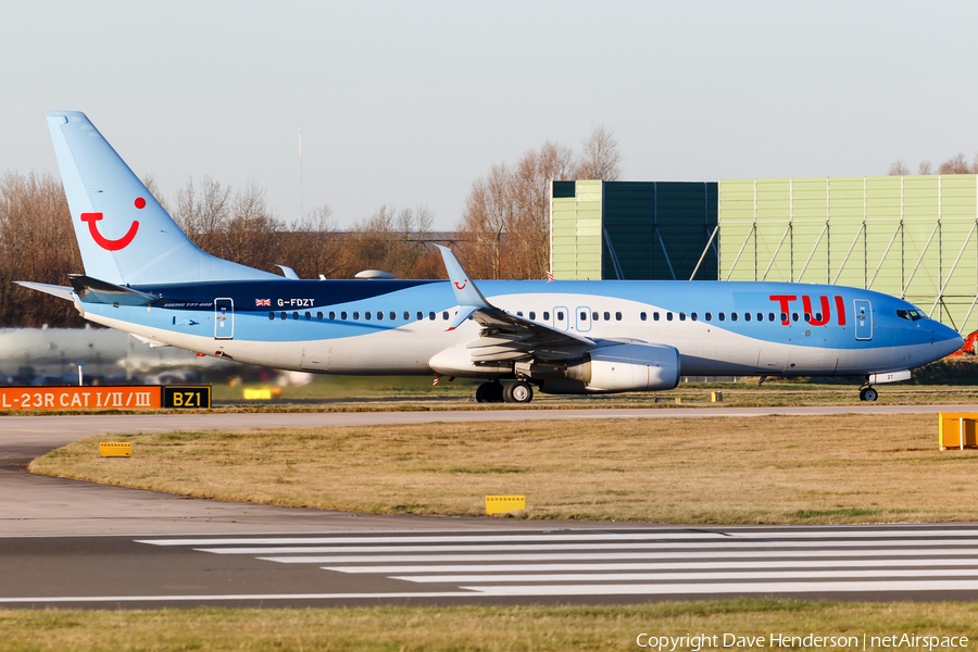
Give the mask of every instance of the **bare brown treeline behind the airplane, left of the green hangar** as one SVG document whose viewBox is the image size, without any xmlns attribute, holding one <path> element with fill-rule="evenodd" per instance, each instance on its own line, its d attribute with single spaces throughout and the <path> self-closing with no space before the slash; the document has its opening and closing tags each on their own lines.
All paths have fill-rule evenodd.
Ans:
<svg viewBox="0 0 978 652">
<path fill-rule="evenodd" d="M 329 206 L 286 223 L 258 184 L 233 189 L 211 177 L 190 179 L 168 201 L 150 176 L 147 188 L 204 251 L 243 265 L 301 278 L 351 278 L 383 269 L 399 278 L 447 278 L 431 244 L 450 242 L 475 278 L 543 278 L 550 258 L 550 180 L 620 176 L 622 156 L 611 130 L 598 127 L 580 152 L 546 142 L 515 163 L 493 165 L 476 179 L 456 230 L 434 234 L 424 205 L 384 205 L 339 230 Z M 84 324 L 61 299 L 15 285 L 68 285 L 83 272 L 71 214 L 59 179 L 50 174 L 0 176 L 0 327 L 76 327 Z"/>
</svg>

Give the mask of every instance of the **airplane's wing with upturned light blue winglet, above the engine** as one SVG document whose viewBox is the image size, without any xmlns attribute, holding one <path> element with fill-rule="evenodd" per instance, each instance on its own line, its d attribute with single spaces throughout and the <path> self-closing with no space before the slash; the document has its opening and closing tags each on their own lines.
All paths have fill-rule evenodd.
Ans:
<svg viewBox="0 0 978 652">
<path fill-rule="evenodd" d="M 591 340 L 547 324 L 507 313 L 489 303 L 448 247 L 438 246 L 459 301 L 459 313 L 449 326 L 454 330 L 469 317 L 482 326 L 479 339 L 467 344 L 473 362 L 500 362 L 532 355 L 541 360 L 579 358 L 594 348 Z"/>
</svg>

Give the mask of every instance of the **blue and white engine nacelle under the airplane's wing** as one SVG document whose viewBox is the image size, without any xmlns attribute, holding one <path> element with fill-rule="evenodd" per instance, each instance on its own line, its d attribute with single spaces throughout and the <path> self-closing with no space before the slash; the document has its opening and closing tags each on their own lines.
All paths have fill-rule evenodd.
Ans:
<svg viewBox="0 0 978 652">
<path fill-rule="evenodd" d="M 679 351 L 665 344 L 602 347 L 568 365 L 567 378 L 589 392 L 673 389 L 679 385 Z"/>
</svg>

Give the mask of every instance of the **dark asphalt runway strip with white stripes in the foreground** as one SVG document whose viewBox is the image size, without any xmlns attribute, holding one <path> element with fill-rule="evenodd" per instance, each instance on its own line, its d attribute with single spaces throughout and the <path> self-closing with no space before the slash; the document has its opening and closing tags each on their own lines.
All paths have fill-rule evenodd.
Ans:
<svg viewBox="0 0 978 652">
<path fill-rule="evenodd" d="M 0 605 L 974 600 L 978 527 L 541 528 L 0 539 Z"/>
</svg>

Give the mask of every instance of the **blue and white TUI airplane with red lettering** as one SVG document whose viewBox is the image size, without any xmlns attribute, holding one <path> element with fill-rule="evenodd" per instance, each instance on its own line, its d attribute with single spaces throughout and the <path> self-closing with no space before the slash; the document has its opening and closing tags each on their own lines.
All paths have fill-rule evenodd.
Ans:
<svg viewBox="0 0 978 652">
<path fill-rule="evenodd" d="M 537 391 L 661 391 L 681 376 L 905 380 L 962 337 L 883 293 L 767 281 L 299 279 L 212 256 L 88 117 L 47 113 L 84 274 L 21 285 L 151 346 L 334 375 L 482 379 L 478 402 Z M 507 383 L 503 384 L 503 380 Z"/>
</svg>

